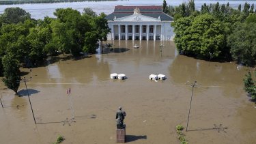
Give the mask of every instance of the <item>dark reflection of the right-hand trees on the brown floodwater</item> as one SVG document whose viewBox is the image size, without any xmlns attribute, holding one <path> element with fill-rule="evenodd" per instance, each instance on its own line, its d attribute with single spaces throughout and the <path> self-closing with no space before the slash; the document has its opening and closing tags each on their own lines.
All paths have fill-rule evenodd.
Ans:
<svg viewBox="0 0 256 144">
<path fill-rule="evenodd" d="M 175 83 L 197 80 L 203 85 L 242 86 L 246 70 L 237 70 L 236 63 L 211 63 L 184 55 L 175 57 L 169 66 L 170 76 Z"/>
</svg>

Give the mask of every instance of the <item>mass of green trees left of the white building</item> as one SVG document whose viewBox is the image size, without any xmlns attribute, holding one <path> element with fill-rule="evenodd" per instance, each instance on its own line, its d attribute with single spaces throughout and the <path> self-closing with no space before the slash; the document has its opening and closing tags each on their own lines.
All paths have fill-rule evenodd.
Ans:
<svg viewBox="0 0 256 144">
<path fill-rule="evenodd" d="M 57 9 L 57 18 L 34 20 L 21 8 L 0 14 L 0 75 L 9 89 L 17 92 L 20 66 L 33 67 L 47 55 L 96 53 L 97 43 L 110 32 L 104 13 L 89 8 L 81 14 L 71 8 Z"/>
</svg>

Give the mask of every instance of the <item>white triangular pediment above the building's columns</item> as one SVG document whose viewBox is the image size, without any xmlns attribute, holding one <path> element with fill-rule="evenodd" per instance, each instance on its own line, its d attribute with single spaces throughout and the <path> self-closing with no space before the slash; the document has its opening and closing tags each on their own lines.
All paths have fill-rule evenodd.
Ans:
<svg viewBox="0 0 256 144">
<path fill-rule="evenodd" d="M 132 14 L 130 16 L 124 16 L 121 18 L 114 18 L 114 21 L 138 21 L 138 22 L 143 22 L 143 21 L 161 21 L 160 17 L 158 18 L 153 18 L 150 16 L 144 16 L 143 14 Z"/>
</svg>

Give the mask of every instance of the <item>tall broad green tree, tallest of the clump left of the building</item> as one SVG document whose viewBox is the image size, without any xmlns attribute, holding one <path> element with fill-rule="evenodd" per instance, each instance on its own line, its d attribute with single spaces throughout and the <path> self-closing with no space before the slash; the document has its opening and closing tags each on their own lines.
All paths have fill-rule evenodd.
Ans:
<svg viewBox="0 0 256 144">
<path fill-rule="evenodd" d="M 57 25 L 55 26 L 57 29 L 63 29 L 63 31 L 58 30 L 61 48 L 66 53 L 70 51 L 72 55 L 79 55 L 84 46 L 85 33 L 89 29 L 88 21 L 81 16 L 79 11 L 71 8 L 57 9 L 54 14 L 57 16 Z"/>
</svg>

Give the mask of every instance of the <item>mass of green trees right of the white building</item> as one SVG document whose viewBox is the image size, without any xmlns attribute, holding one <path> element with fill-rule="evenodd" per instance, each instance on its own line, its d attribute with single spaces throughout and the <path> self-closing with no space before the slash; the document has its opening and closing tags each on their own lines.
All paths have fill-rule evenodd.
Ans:
<svg viewBox="0 0 256 144">
<path fill-rule="evenodd" d="M 234 10 L 229 3 L 204 3 L 198 11 L 194 1 L 189 1 L 175 8 L 169 6 L 167 11 L 174 17 L 174 40 L 183 55 L 255 64 L 254 5 L 245 3 L 242 10 L 241 5 Z"/>
</svg>

